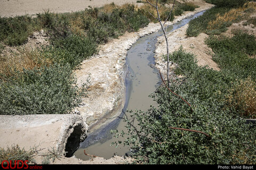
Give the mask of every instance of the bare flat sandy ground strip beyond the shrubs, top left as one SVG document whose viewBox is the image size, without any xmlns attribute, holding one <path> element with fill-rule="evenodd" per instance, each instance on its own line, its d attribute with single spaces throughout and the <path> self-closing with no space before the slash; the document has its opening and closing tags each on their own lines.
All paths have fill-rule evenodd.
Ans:
<svg viewBox="0 0 256 170">
<path fill-rule="evenodd" d="M 1 0 L 0 16 L 35 15 L 45 10 L 54 13 L 82 11 L 88 6 L 100 7 L 105 4 L 135 4 L 137 0 Z"/>
</svg>

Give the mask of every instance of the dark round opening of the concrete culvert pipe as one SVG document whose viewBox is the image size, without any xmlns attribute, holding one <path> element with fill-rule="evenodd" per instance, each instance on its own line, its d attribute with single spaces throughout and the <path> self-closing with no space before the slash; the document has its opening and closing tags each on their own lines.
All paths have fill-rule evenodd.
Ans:
<svg viewBox="0 0 256 170">
<path fill-rule="evenodd" d="M 82 124 L 77 124 L 74 127 L 74 130 L 68 137 L 68 140 L 66 143 L 66 147 L 65 147 L 66 157 L 69 158 L 73 156 L 74 152 L 79 148 L 80 143 L 85 139 L 84 133 L 85 131 Z"/>
</svg>

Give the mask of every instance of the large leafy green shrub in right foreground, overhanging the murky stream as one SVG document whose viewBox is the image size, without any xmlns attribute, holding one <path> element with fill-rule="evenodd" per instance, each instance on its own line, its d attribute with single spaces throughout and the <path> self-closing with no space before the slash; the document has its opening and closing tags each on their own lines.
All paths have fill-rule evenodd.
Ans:
<svg viewBox="0 0 256 170">
<path fill-rule="evenodd" d="M 171 55 L 188 77 L 170 88 L 185 98 L 191 108 L 165 87 L 151 95 L 158 107 L 132 112 L 137 128 L 127 119 L 125 145 L 132 147 L 136 163 L 145 164 L 255 164 L 256 129 L 225 107 L 225 95 L 235 74 L 198 66 L 194 55 L 179 49 Z M 184 128 L 204 134 L 174 130 Z"/>
</svg>

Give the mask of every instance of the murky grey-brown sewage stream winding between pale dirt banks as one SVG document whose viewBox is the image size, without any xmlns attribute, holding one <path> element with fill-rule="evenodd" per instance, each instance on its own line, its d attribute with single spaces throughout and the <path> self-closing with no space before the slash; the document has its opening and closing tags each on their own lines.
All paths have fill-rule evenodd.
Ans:
<svg viewBox="0 0 256 170">
<path fill-rule="evenodd" d="M 202 15 L 204 12 L 198 12 L 173 25 L 169 25 L 167 32 L 182 27 L 191 19 Z M 105 159 L 109 159 L 114 155 L 124 156 L 130 151 L 130 147 L 123 147 L 123 145 L 118 147 L 110 146 L 111 142 L 121 140 L 115 138 L 110 131 L 115 129 L 119 132 L 126 130 L 124 127 L 126 123 L 121 118 L 124 114 L 129 114 L 127 112 L 125 113 L 126 109 L 147 111 L 150 105 L 157 107 L 156 102 L 149 95 L 155 91 L 157 84 L 161 81 L 158 70 L 155 68 L 154 51 L 157 38 L 162 35 L 163 31 L 159 30 L 151 35 L 141 37 L 128 50 L 126 56 L 128 71 L 125 78 L 126 103 L 123 113 L 104 129 L 88 134 L 88 137 L 74 153 L 77 158 L 83 160 L 89 160 L 91 158 L 90 156 L 84 155 L 84 150 L 87 154 L 96 155 Z"/>
</svg>

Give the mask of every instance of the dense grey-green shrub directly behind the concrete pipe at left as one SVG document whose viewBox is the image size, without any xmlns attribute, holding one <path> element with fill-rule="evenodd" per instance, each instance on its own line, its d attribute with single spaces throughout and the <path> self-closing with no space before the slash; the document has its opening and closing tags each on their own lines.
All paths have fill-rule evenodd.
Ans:
<svg viewBox="0 0 256 170">
<path fill-rule="evenodd" d="M 23 70 L 0 82 L 0 114 L 67 114 L 81 104 L 79 91 L 68 64 Z"/>
</svg>

